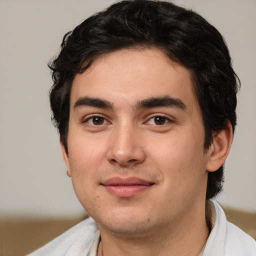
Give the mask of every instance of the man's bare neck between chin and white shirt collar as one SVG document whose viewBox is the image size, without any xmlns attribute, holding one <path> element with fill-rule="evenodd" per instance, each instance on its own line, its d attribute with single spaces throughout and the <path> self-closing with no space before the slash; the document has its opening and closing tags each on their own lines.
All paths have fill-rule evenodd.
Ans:
<svg viewBox="0 0 256 256">
<path fill-rule="evenodd" d="M 189 216 L 179 216 L 145 234 L 115 234 L 100 227 L 99 230 L 98 256 L 197 256 L 209 234 L 205 208 L 191 209 Z"/>
</svg>

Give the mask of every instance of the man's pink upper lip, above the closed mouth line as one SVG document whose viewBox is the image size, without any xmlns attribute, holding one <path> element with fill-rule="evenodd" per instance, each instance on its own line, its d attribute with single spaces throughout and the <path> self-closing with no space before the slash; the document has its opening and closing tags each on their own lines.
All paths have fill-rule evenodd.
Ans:
<svg viewBox="0 0 256 256">
<path fill-rule="evenodd" d="M 111 185 L 152 185 L 154 182 L 146 181 L 139 177 L 111 177 L 104 180 L 102 185 L 111 186 Z"/>
</svg>

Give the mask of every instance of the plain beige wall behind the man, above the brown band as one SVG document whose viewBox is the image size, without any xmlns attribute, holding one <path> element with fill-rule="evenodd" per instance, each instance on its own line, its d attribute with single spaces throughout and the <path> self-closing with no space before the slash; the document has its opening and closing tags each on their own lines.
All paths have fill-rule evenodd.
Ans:
<svg viewBox="0 0 256 256">
<path fill-rule="evenodd" d="M 48 59 L 65 32 L 113 0 L 0 0 L 0 216 L 83 212 L 50 122 Z M 176 0 L 226 39 L 241 79 L 238 126 L 226 161 L 227 206 L 256 211 L 256 1 Z"/>
</svg>

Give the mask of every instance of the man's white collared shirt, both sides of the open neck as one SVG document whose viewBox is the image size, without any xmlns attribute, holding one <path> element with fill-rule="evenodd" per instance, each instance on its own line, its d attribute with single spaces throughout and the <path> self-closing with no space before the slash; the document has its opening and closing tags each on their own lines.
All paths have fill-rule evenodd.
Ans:
<svg viewBox="0 0 256 256">
<path fill-rule="evenodd" d="M 217 202 L 210 202 L 210 208 L 214 225 L 199 255 L 256 256 L 256 241 L 227 222 Z M 96 256 L 98 242 L 99 231 L 89 217 L 27 256 Z"/>
</svg>

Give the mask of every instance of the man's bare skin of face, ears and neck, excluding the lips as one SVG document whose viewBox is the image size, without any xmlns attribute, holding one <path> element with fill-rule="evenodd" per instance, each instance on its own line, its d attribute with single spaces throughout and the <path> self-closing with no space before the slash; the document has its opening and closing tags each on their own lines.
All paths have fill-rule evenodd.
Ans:
<svg viewBox="0 0 256 256">
<path fill-rule="evenodd" d="M 99 254 L 196 256 L 203 247 L 207 173 L 224 162 L 232 132 L 228 124 L 203 151 L 192 86 L 189 70 L 156 48 L 111 52 L 76 74 L 68 154 L 61 147 L 76 196 L 100 230 Z M 152 97 L 172 103 L 149 106 Z M 116 195 L 104 185 L 113 177 L 150 185 Z"/>
</svg>

